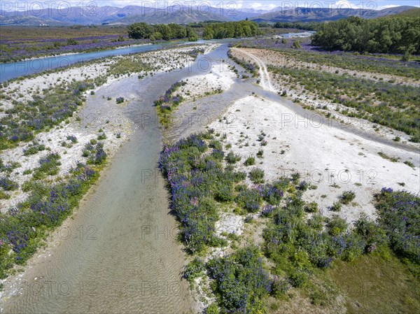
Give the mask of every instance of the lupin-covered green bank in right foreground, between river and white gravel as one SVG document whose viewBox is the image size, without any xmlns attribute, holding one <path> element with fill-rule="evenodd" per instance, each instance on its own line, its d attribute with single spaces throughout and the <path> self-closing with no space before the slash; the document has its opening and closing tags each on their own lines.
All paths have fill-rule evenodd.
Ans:
<svg viewBox="0 0 420 314">
<path fill-rule="evenodd" d="M 345 293 L 335 274 L 352 276 L 358 261 L 375 269 L 375 263 L 380 268 L 392 260 L 412 280 L 405 289 L 418 283 L 418 197 L 383 189 L 377 196 L 379 221 L 362 216 L 349 226 L 338 216 L 323 217 L 316 204 L 302 200 L 311 186 L 298 174 L 265 183 L 264 172 L 252 166 L 255 162 L 225 152 L 225 139 L 212 131 L 195 134 L 166 145 L 160 156 L 160 169 L 172 192 L 171 208 L 192 259 L 184 276 L 210 292 L 204 299 L 216 300 L 206 301 L 207 313 L 260 313 L 267 304 L 268 311 L 276 311 L 297 296 L 309 304 L 301 313 L 334 313 L 337 296 Z M 239 162 L 248 164 L 250 171 L 237 172 Z M 254 183 L 251 187 L 244 184 L 247 176 Z M 345 192 L 339 202 L 351 199 L 353 194 Z M 240 228 L 220 232 L 216 226 L 226 215 L 262 228 L 262 241 Z M 356 273 L 362 276 L 363 271 Z M 380 285 L 388 280 L 378 279 Z M 349 283 L 357 289 L 355 280 Z M 347 297 L 351 302 L 360 293 Z M 410 292 L 402 307 L 419 308 L 415 297 L 416 292 Z M 367 308 L 379 300 L 381 296 L 368 300 Z"/>
</svg>

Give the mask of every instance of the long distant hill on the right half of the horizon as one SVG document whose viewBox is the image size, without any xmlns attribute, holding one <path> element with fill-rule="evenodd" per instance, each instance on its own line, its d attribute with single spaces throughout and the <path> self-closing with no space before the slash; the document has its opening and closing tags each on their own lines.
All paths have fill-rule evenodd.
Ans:
<svg viewBox="0 0 420 314">
<path fill-rule="evenodd" d="M 349 16 L 358 16 L 365 19 L 394 15 L 411 10 L 412 6 L 398 6 L 395 8 L 386 8 L 384 10 L 367 9 L 330 9 L 330 8 L 294 8 L 282 9 L 276 8 L 274 11 L 262 14 L 253 18 L 255 22 L 323 22 L 334 21 Z"/>
</svg>

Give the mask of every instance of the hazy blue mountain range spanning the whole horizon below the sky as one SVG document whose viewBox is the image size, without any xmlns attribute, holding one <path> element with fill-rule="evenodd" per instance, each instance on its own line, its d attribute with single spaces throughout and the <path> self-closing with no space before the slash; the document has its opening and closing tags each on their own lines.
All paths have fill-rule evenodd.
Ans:
<svg viewBox="0 0 420 314">
<path fill-rule="evenodd" d="M 228 10 L 210 7 L 169 6 L 167 8 L 147 8 L 143 6 L 101 6 L 97 8 L 71 7 L 62 10 L 45 8 L 43 10 L 8 11 L 0 10 L 0 25 L 90 25 L 90 24 L 149 24 L 189 23 L 213 21 L 254 20 L 255 22 L 322 22 L 338 20 L 349 16 L 367 19 L 384 17 L 413 10 L 413 6 L 398 6 L 384 10 L 367 9 L 329 9 L 329 8 L 274 8 L 273 10 L 255 10 L 241 8 Z"/>
</svg>

